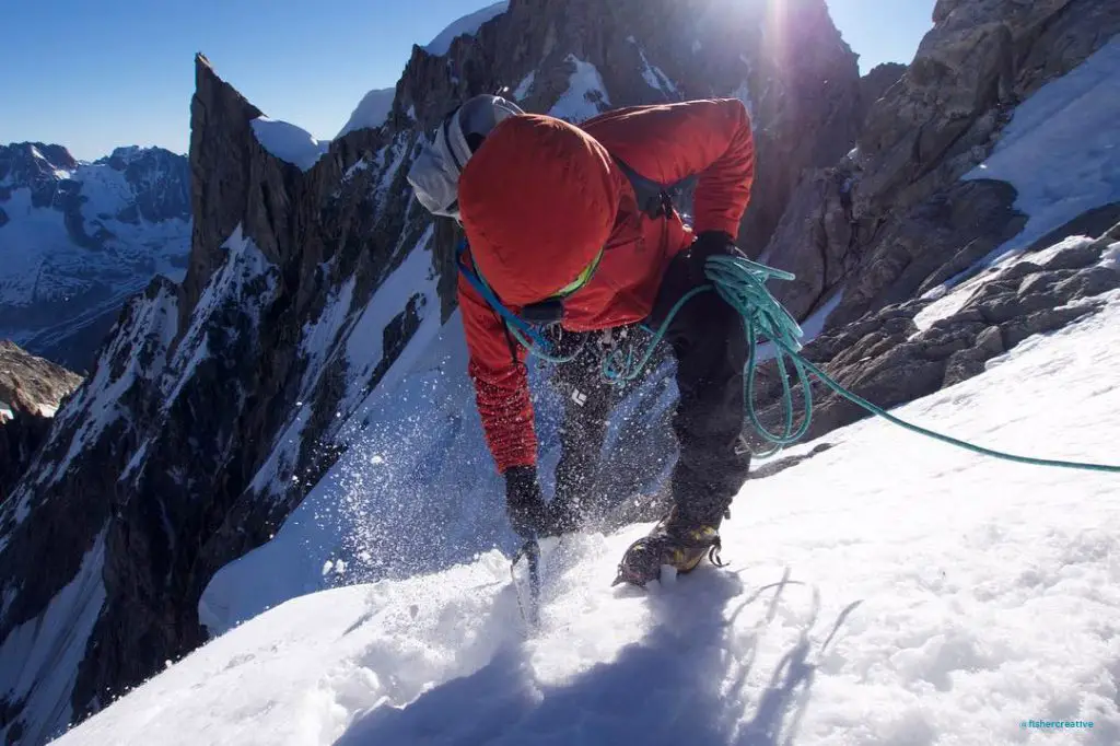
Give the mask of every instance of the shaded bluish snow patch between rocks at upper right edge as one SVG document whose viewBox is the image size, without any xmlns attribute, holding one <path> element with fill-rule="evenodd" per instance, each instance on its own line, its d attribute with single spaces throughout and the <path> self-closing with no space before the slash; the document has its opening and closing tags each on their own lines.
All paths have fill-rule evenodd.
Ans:
<svg viewBox="0 0 1120 746">
<path fill-rule="evenodd" d="M 1021 251 L 1077 215 L 1120 201 L 1120 36 L 1019 104 L 999 143 L 969 179 L 1018 192 L 1029 220 L 984 263 Z"/>
</svg>

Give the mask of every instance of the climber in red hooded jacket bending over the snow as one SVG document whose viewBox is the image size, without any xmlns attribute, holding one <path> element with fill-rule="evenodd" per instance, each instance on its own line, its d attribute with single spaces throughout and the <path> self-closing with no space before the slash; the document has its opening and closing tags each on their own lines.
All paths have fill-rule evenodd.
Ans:
<svg viewBox="0 0 1120 746">
<path fill-rule="evenodd" d="M 669 188 L 691 176 L 698 180 L 689 227 Z M 417 198 L 466 234 L 458 297 L 468 373 L 505 477 L 511 523 L 522 535 L 571 530 L 571 506 L 558 500 L 550 506 L 541 493 L 525 349 L 511 326 L 576 334 L 657 326 L 706 282 L 709 257 L 738 254 L 753 180 L 749 115 L 734 99 L 619 109 L 576 127 L 477 96 L 442 122 L 417 158 L 409 172 Z M 663 565 L 688 572 L 704 554 L 715 560 L 720 523 L 749 467 L 740 447 L 741 317 L 703 293 L 673 316 L 665 339 L 680 392 L 673 505 L 627 550 L 616 582 L 644 585 Z M 600 380 L 580 393 L 613 388 Z M 569 407 L 573 420 L 576 409 Z M 579 444 L 591 463 L 609 399 L 594 409 L 595 421 L 584 428 L 590 436 Z"/>
</svg>

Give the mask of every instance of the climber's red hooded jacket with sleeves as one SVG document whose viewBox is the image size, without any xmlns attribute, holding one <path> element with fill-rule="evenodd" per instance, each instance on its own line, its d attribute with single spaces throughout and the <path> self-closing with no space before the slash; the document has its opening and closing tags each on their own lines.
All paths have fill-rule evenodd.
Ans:
<svg viewBox="0 0 1120 746">
<path fill-rule="evenodd" d="M 670 260 L 692 233 L 678 215 L 651 218 L 610 156 L 672 184 L 699 175 L 696 232 L 738 234 L 754 180 L 743 103 L 689 101 L 610 111 L 580 128 L 529 114 L 502 122 L 467 162 L 460 209 L 473 259 L 514 313 L 553 295 L 605 248 L 590 282 L 564 301 L 564 329 L 644 319 Z M 536 463 L 525 351 L 459 277 L 459 307 L 486 440 L 500 472 Z"/>
</svg>

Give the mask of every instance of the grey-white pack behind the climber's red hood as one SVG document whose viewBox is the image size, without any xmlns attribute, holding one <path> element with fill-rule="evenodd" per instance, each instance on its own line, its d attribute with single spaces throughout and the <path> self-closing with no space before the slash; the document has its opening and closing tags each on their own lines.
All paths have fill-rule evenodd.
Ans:
<svg viewBox="0 0 1120 746">
<path fill-rule="evenodd" d="M 428 212 L 459 220 L 459 175 L 472 153 L 498 122 L 525 112 L 512 101 L 488 94 L 469 99 L 436 129 L 435 141 L 409 169 L 409 184 Z"/>
</svg>

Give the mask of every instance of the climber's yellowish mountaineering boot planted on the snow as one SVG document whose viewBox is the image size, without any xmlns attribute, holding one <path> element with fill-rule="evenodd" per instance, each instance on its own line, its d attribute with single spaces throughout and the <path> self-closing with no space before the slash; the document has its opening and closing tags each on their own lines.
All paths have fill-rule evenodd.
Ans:
<svg viewBox="0 0 1120 746">
<path fill-rule="evenodd" d="M 698 521 L 673 506 L 646 537 L 629 545 L 618 563 L 618 576 L 610 585 L 629 582 L 644 586 L 661 577 L 664 565 L 679 574 L 691 572 L 704 554 L 712 565 L 722 567 L 719 559 L 719 524 L 722 517 L 718 514 L 715 520 Z"/>
</svg>

